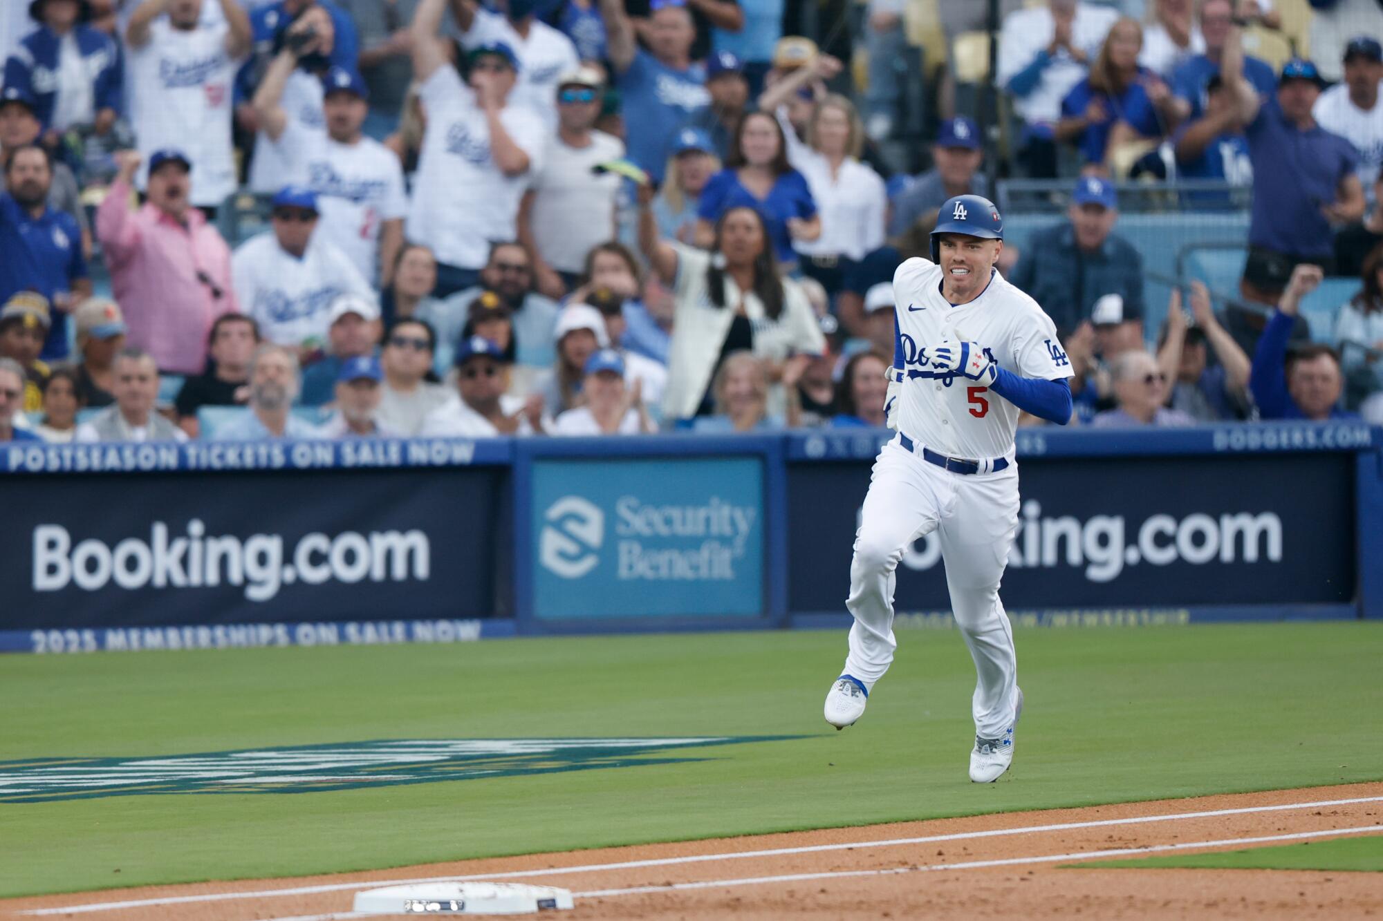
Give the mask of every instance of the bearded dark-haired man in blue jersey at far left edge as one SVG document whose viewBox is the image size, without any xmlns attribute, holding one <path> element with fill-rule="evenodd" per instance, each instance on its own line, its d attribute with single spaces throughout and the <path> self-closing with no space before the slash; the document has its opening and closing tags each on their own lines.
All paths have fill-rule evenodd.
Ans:
<svg viewBox="0 0 1383 921">
<path fill-rule="evenodd" d="M 54 310 L 40 355 L 47 361 L 68 357 L 68 313 L 91 295 L 82 232 L 72 217 L 47 205 L 51 165 L 36 144 L 10 151 L 7 191 L 0 195 L 0 301 L 19 290 L 47 297 Z"/>
</svg>

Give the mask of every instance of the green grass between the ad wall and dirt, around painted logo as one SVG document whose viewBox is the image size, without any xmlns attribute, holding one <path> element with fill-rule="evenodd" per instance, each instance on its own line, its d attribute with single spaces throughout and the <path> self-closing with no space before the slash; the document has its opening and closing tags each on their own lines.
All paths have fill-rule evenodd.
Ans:
<svg viewBox="0 0 1383 921">
<path fill-rule="evenodd" d="M 644 766 L 333 792 L 0 802 L 0 896 L 1383 779 L 1383 625 L 1018 635 L 1011 779 L 967 779 L 960 635 L 907 631 L 860 723 L 844 633 L 0 658 L 0 758 L 382 738 L 802 736 Z M 0 765 L 0 774 L 12 765 Z M 3 797 L 3 790 L 0 790 Z M 1312 845 L 1317 848 L 1318 845 Z"/>
</svg>

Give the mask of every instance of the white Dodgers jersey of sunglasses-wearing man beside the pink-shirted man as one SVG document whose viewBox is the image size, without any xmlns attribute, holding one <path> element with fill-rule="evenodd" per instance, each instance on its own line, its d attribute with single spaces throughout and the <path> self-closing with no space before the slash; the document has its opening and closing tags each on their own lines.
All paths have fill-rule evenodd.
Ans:
<svg viewBox="0 0 1383 921">
<path fill-rule="evenodd" d="M 326 342 L 337 295 L 375 300 L 365 277 L 321 234 L 313 235 L 301 259 L 279 246 L 274 231 L 241 243 L 231 256 L 231 281 L 241 310 L 259 322 L 260 335 L 293 348 L 314 339 Z"/>
</svg>

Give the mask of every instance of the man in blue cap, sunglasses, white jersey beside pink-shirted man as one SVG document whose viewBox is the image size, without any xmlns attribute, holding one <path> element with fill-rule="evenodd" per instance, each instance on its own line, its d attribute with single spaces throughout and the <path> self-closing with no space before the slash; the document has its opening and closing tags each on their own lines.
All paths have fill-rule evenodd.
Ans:
<svg viewBox="0 0 1383 921">
<path fill-rule="evenodd" d="M 326 342 L 332 301 L 344 293 L 373 299 L 375 292 L 343 252 L 313 232 L 319 216 L 315 192 L 285 185 L 272 207 L 272 231 L 241 243 L 231 257 L 235 293 L 266 340 L 315 358 Z"/>
</svg>

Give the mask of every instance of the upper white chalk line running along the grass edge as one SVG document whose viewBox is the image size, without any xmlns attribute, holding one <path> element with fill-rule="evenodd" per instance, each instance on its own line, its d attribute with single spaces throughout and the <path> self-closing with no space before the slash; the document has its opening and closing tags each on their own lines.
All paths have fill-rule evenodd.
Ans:
<svg viewBox="0 0 1383 921">
<path fill-rule="evenodd" d="M 924 835 L 920 838 L 892 838 L 887 841 L 855 841 L 848 844 L 808 845 L 801 848 L 769 848 L 765 850 L 732 850 L 727 853 L 689 855 L 683 857 L 657 857 L 649 860 L 622 860 L 617 863 L 591 863 L 573 867 L 546 867 L 542 870 L 514 870 L 509 873 L 488 873 L 454 877 L 419 877 L 415 880 L 371 880 L 368 882 L 333 882 L 311 886 L 292 886 L 284 889 L 260 889 L 256 892 L 209 892 L 205 895 L 163 896 L 158 899 L 131 899 L 127 902 L 93 902 L 87 904 L 71 904 L 55 909 L 29 909 L 21 914 L 82 914 L 90 911 L 116 911 L 120 909 L 142 909 L 158 904 L 187 904 L 194 902 L 225 902 L 235 899 L 268 899 L 274 896 L 317 895 L 321 892 L 342 892 L 368 889 L 378 885 L 411 885 L 419 882 L 466 882 L 472 880 L 523 880 L 532 877 L 566 875 L 573 873 L 603 873 L 607 870 L 633 870 L 639 867 L 671 867 L 689 863 L 708 863 L 718 860 L 748 860 L 755 857 L 779 857 L 797 853 L 820 853 L 824 850 L 853 850 L 860 848 L 896 848 L 914 844 L 935 844 L 939 841 L 971 841 L 975 838 L 997 838 L 1001 835 L 1041 834 L 1047 831 L 1072 831 L 1077 828 L 1102 828 L 1109 826 L 1134 826 L 1153 821 L 1178 821 L 1184 819 L 1213 819 L 1217 816 L 1239 816 L 1257 812 L 1283 812 L 1290 809 L 1314 809 L 1321 806 L 1350 806 L 1365 802 L 1383 802 L 1383 797 L 1354 797 L 1350 799 L 1322 799 L 1317 802 L 1293 802 L 1277 806 L 1242 806 L 1238 809 L 1212 809 L 1207 812 L 1181 812 L 1167 816 L 1133 816 L 1129 819 L 1098 819 L 1094 821 L 1064 821 L 1048 826 L 1022 826 L 1017 828 L 993 828 L 989 831 L 963 831 L 946 835 Z M 1123 805 L 1123 803 L 1105 803 Z"/>
</svg>

